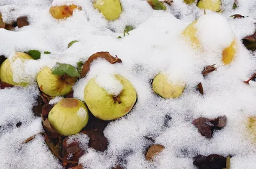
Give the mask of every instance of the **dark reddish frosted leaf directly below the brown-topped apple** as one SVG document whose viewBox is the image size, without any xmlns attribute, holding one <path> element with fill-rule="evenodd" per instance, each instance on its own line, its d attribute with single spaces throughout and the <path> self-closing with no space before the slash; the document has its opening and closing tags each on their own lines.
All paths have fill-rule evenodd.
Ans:
<svg viewBox="0 0 256 169">
<path fill-rule="evenodd" d="M 77 161 L 84 154 L 84 150 L 79 146 L 79 142 L 67 143 L 68 137 L 63 140 L 62 157 L 71 161 Z"/>
</svg>

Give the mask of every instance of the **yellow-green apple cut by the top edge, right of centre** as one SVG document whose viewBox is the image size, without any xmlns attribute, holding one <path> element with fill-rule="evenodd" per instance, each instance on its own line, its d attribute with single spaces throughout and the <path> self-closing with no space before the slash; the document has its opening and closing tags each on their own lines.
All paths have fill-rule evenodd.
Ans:
<svg viewBox="0 0 256 169">
<path fill-rule="evenodd" d="M 212 11 L 220 11 L 220 0 L 200 0 L 197 3 L 198 8 Z"/>
</svg>

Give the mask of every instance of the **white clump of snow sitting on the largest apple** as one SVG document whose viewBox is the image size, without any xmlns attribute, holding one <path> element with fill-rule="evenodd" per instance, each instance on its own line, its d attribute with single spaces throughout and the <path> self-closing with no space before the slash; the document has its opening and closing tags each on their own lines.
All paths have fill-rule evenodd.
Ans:
<svg viewBox="0 0 256 169">
<path fill-rule="evenodd" d="M 95 78 L 95 82 L 113 96 L 118 96 L 124 89 L 121 82 L 115 78 L 115 75 L 98 75 Z"/>
</svg>

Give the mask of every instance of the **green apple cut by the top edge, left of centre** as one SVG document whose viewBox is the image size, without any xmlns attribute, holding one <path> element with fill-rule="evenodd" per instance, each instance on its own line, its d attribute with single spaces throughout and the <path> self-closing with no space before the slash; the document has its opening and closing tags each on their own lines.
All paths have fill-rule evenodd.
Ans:
<svg viewBox="0 0 256 169">
<path fill-rule="evenodd" d="M 120 0 L 94 0 L 93 6 L 106 20 L 116 20 L 122 13 Z"/>
</svg>

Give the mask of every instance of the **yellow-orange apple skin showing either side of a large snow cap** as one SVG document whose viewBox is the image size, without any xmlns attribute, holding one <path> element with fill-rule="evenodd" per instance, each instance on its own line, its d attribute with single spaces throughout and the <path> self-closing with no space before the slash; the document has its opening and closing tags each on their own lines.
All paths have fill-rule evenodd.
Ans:
<svg viewBox="0 0 256 169">
<path fill-rule="evenodd" d="M 198 18 L 200 19 L 200 18 Z M 189 44 L 194 47 L 195 49 L 199 49 L 202 47 L 200 41 L 198 40 L 196 33 L 197 29 L 195 28 L 195 24 L 198 20 L 195 20 L 191 24 L 189 24 L 186 29 L 182 32 L 182 35 L 187 38 L 189 41 Z M 227 48 L 224 48 L 222 51 L 222 61 L 224 64 L 230 64 L 234 60 L 234 57 L 236 55 L 236 50 L 237 50 L 237 42 L 236 39 L 230 43 L 230 45 Z"/>
</svg>

